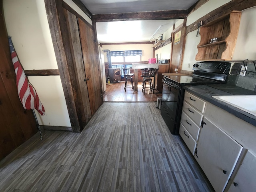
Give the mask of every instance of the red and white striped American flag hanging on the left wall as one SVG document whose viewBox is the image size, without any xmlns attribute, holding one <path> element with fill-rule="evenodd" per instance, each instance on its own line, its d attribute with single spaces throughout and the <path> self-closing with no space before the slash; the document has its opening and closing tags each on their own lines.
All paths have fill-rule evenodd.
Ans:
<svg viewBox="0 0 256 192">
<path fill-rule="evenodd" d="M 12 57 L 12 63 L 14 65 L 14 70 L 16 73 L 16 85 L 18 88 L 18 95 L 19 95 L 20 101 L 24 109 L 36 109 L 41 115 L 44 115 L 45 114 L 44 106 L 39 100 L 36 90 L 28 82 L 28 78 L 26 77 L 26 74 L 22 69 L 22 66 L 20 64 L 16 51 L 14 50 L 11 36 L 8 36 L 8 40 L 9 40 L 11 57 Z"/>
</svg>

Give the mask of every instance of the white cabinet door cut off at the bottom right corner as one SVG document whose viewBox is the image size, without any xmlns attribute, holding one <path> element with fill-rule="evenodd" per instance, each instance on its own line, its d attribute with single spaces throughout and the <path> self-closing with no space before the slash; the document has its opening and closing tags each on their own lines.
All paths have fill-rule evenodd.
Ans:
<svg viewBox="0 0 256 192">
<path fill-rule="evenodd" d="M 244 192 L 256 190 L 256 156 L 248 151 L 228 192 Z"/>
</svg>

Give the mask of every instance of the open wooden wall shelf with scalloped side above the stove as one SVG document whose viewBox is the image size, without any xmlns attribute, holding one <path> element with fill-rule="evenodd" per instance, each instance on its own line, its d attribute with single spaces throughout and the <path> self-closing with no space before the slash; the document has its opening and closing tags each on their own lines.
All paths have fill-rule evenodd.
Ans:
<svg viewBox="0 0 256 192">
<path fill-rule="evenodd" d="M 232 11 L 200 27 L 196 60 L 232 60 L 241 11 Z M 212 38 L 218 42 L 209 43 Z"/>
</svg>

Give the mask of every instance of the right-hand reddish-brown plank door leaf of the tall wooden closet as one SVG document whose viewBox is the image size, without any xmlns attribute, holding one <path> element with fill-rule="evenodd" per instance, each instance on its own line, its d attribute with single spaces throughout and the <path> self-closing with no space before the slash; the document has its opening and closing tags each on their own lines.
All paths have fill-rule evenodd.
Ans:
<svg viewBox="0 0 256 192">
<path fill-rule="evenodd" d="M 80 40 L 86 72 L 87 87 L 92 115 L 103 103 L 100 75 L 100 62 L 98 57 L 98 44 L 94 41 L 92 26 L 88 26 L 78 19 Z"/>
</svg>

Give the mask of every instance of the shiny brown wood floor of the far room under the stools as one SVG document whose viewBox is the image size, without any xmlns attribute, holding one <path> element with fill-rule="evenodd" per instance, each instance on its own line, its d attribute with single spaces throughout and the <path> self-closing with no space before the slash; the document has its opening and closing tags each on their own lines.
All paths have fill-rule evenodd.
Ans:
<svg viewBox="0 0 256 192">
<path fill-rule="evenodd" d="M 138 91 L 133 91 L 128 82 L 126 92 L 124 91 L 124 82 L 107 85 L 107 89 L 103 94 L 104 102 L 156 102 L 157 97 L 162 96 L 158 91 L 142 92 L 141 82 L 138 82 Z"/>
</svg>

